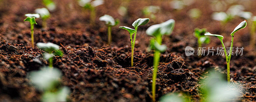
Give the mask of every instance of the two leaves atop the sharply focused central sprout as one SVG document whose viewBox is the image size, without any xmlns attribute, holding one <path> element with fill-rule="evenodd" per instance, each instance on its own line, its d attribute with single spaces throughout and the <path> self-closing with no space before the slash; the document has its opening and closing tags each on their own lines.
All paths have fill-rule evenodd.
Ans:
<svg viewBox="0 0 256 102">
<path fill-rule="evenodd" d="M 148 23 L 148 21 L 149 21 L 149 18 L 139 18 L 139 19 L 135 20 L 135 21 L 132 23 L 132 26 L 133 26 L 135 29 L 137 29 L 138 26 L 140 26 L 140 25 L 146 25 L 146 24 Z M 130 35 L 132 35 L 132 34 L 134 34 L 134 33 L 136 32 L 135 29 L 132 29 L 132 28 L 127 27 L 127 26 L 120 26 L 119 28 L 122 28 L 122 29 L 127 30 L 127 31 L 130 33 Z"/>
</svg>

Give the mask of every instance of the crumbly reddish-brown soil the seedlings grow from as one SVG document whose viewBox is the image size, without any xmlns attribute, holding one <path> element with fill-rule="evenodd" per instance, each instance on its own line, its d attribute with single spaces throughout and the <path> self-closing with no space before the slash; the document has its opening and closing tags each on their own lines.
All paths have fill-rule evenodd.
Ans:
<svg viewBox="0 0 256 102">
<path fill-rule="evenodd" d="M 122 3 L 121 0 L 104 1 L 105 4 L 97 7 L 96 25 L 89 24 L 89 11 L 73 0 L 54 0 L 57 9 L 51 12 L 47 29 L 42 29 L 42 20 L 36 19 L 38 25 L 35 25 L 35 42 L 58 44 L 64 53 L 62 57 L 54 57 L 53 66 L 62 70 L 61 82 L 71 89 L 70 101 L 150 102 L 153 51 L 147 51 L 151 37 L 145 31 L 150 25 L 171 18 L 176 24 L 173 33 L 163 37 L 167 50 L 160 57 L 156 100 L 169 92 L 187 92 L 193 100 L 199 101 L 199 80 L 204 74 L 211 69 L 227 73 L 225 56 L 186 56 L 185 47 L 197 47 L 197 40 L 193 36 L 196 27 L 205 27 L 213 34 L 223 35 L 224 44 L 229 46 L 229 33 L 244 19 L 234 18 L 226 25 L 212 20 L 210 0 L 196 0 L 182 10 L 173 10 L 170 1 L 164 0 L 130 0 L 130 4 Z M 236 3 L 247 5 L 245 11 L 256 15 L 253 8 L 256 2 L 248 2 Z M 120 5 L 128 8 L 126 16 L 115 12 Z M 137 18 L 146 18 L 140 11 L 148 5 L 159 5 L 161 11 L 156 14 L 156 19 L 150 19 L 147 25 L 138 28 L 134 66 L 131 67 L 129 34 L 118 26 L 132 27 L 131 24 Z M 44 51 L 30 45 L 30 25 L 23 19 L 24 14 L 34 13 L 36 8 L 43 7 L 39 0 L 0 0 L 1 102 L 40 101 L 42 92 L 30 84 L 27 74 L 48 63 L 42 57 Z M 202 11 L 199 19 L 189 18 L 187 14 L 195 7 Z M 111 46 L 107 43 L 107 27 L 98 20 L 104 14 L 121 21 L 121 24 L 112 28 Z M 234 38 L 234 47 L 244 47 L 243 55 L 232 56 L 230 63 L 231 80 L 240 83 L 244 89 L 239 97 L 242 102 L 256 101 L 256 55 L 255 49 L 248 46 L 250 25 L 247 26 L 237 32 Z M 221 47 L 221 43 L 212 37 L 211 43 L 203 46 Z"/>
</svg>

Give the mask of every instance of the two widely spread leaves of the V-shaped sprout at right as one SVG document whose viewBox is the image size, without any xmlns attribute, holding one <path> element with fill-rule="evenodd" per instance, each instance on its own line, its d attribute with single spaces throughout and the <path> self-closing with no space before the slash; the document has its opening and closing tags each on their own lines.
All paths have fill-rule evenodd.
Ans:
<svg viewBox="0 0 256 102">
<path fill-rule="evenodd" d="M 234 34 L 239 31 L 240 29 L 243 29 L 244 27 L 246 27 L 247 22 L 246 20 L 244 20 L 243 22 L 241 22 L 239 25 L 236 26 L 236 28 L 234 29 L 234 31 L 230 34 L 232 37 L 234 37 Z M 223 36 L 222 35 L 217 35 L 217 34 L 211 34 L 209 32 L 206 32 L 204 35 L 210 35 L 210 36 L 215 36 L 217 38 L 219 38 L 220 40 L 223 40 Z"/>
</svg>

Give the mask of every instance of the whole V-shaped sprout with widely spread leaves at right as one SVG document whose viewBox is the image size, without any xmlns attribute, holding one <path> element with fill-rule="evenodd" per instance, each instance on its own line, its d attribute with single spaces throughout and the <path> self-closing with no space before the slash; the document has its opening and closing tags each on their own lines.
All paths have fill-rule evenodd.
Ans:
<svg viewBox="0 0 256 102">
<path fill-rule="evenodd" d="M 241 22 L 239 25 L 236 26 L 236 28 L 234 29 L 234 31 L 230 34 L 232 36 L 231 38 L 231 45 L 230 45 L 230 50 L 229 50 L 229 54 L 227 54 L 226 48 L 224 46 L 223 43 L 223 36 L 221 35 L 217 35 L 217 34 L 211 34 L 209 32 L 206 32 L 204 35 L 210 35 L 210 36 L 215 36 L 217 38 L 220 39 L 220 42 L 224 48 L 224 52 L 225 52 L 225 56 L 226 56 L 226 61 L 227 61 L 227 79 L 228 79 L 228 83 L 230 83 L 230 68 L 229 68 L 229 63 L 230 63 L 230 58 L 231 58 L 231 54 L 232 54 L 232 47 L 233 47 L 233 41 L 234 41 L 234 34 L 239 31 L 240 29 L 243 29 L 244 27 L 246 27 L 247 23 L 246 20 L 244 20 L 243 22 Z"/>
</svg>

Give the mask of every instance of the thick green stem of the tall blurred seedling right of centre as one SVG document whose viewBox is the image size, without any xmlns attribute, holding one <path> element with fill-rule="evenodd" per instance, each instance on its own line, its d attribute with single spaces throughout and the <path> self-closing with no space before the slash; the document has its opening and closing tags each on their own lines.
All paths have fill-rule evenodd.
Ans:
<svg viewBox="0 0 256 102">
<path fill-rule="evenodd" d="M 159 43 L 160 45 L 162 44 L 162 35 L 161 34 L 158 34 L 158 36 L 156 36 L 156 42 Z M 156 77 L 157 77 L 159 60 L 160 60 L 160 52 L 158 50 L 156 50 L 154 53 L 154 61 L 153 61 L 154 70 L 153 70 L 153 76 L 152 76 L 153 102 L 156 101 Z"/>
</svg>

